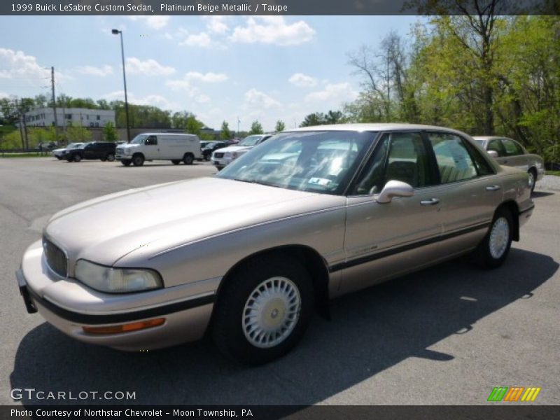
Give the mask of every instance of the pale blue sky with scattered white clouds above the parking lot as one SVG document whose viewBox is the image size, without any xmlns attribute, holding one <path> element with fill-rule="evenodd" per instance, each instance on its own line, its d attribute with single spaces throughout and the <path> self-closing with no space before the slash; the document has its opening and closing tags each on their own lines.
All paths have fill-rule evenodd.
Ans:
<svg viewBox="0 0 560 420">
<path fill-rule="evenodd" d="M 359 90 L 347 54 L 389 31 L 405 38 L 414 16 L 0 17 L 0 96 L 57 93 L 124 99 L 193 112 L 209 127 L 248 130 L 260 120 L 299 125 L 340 109 Z M 45 69 L 48 68 L 48 69 Z"/>
</svg>

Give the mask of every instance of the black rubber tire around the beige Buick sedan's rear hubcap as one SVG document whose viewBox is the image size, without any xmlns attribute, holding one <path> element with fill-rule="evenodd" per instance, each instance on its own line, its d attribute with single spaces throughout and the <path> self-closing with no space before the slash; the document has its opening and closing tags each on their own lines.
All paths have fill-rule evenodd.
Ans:
<svg viewBox="0 0 560 420">
<path fill-rule="evenodd" d="M 503 223 L 507 224 L 507 241 L 505 242 L 505 248 L 503 248 L 503 250 L 500 249 L 500 252 L 493 252 L 491 251 L 491 241 L 493 241 L 492 235 L 498 235 L 499 240 L 500 232 L 498 225 L 503 227 Z M 482 239 L 480 244 L 475 249 L 474 257 L 477 265 L 485 268 L 500 267 L 500 265 L 502 265 L 505 261 L 505 258 L 507 258 L 507 254 L 510 253 L 513 239 L 513 229 L 514 223 L 511 211 L 505 207 L 501 207 L 496 211 L 496 214 L 494 214 L 494 218 L 492 220 L 490 228 L 488 229 L 488 232 L 486 233 L 486 236 L 484 236 L 484 239 Z M 505 240 L 505 237 L 503 239 Z"/>
</svg>

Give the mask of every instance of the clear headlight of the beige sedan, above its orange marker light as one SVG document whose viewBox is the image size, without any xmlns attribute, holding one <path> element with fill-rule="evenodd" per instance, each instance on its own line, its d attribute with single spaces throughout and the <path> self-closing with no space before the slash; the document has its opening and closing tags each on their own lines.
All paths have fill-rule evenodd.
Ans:
<svg viewBox="0 0 560 420">
<path fill-rule="evenodd" d="M 130 293 L 163 287 L 160 274 L 151 269 L 112 268 L 86 260 L 78 260 L 75 275 L 101 292 Z"/>
</svg>

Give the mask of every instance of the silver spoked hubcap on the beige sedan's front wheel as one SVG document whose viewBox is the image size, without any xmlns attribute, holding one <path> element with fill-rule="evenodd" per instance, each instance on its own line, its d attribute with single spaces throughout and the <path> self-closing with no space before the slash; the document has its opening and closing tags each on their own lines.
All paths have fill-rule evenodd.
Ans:
<svg viewBox="0 0 560 420">
<path fill-rule="evenodd" d="M 300 316 L 301 297 L 286 277 L 272 277 L 249 295 L 243 309 L 243 332 L 255 347 L 267 349 L 291 334 Z"/>
</svg>

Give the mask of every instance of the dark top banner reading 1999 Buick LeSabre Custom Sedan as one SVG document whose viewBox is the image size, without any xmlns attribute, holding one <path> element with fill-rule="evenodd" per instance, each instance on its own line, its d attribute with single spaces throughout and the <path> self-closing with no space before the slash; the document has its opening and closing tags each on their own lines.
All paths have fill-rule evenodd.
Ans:
<svg viewBox="0 0 560 420">
<path fill-rule="evenodd" d="M 1 15 L 558 15 L 559 0 L 2 0 Z"/>
</svg>

